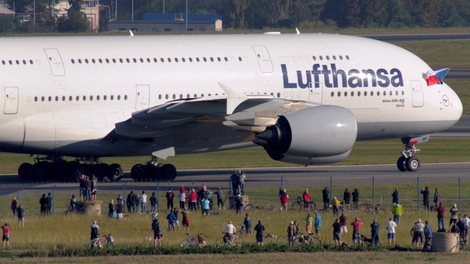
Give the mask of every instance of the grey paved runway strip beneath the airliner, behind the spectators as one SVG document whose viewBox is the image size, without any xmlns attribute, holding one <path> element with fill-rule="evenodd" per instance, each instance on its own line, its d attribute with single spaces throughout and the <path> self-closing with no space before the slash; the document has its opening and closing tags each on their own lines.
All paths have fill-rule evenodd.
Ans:
<svg viewBox="0 0 470 264">
<path fill-rule="evenodd" d="M 470 163 L 422 164 L 418 172 L 399 172 L 396 165 L 360 165 L 360 166 L 318 166 L 318 167 L 288 167 L 288 168 L 239 168 L 247 174 L 246 189 L 286 187 L 322 187 L 329 186 L 332 177 L 333 186 L 368 185 L 372 184 L 413 184 L 417 177 L 422 184 L 455 182 L 470 182 Z M 232 171 L 224 170 L 183 170 L 176 181 L 159 184 L 160 191 L 200 187 L 206 183 L 208 188 L 229 187 L 229 177 Z M 99 193 L 122 193 L 125 184 L 127 192 L 131 189 L 146 192 L 157 191 L 157 182 L 132 182 L 129 173 L 125 174 L 124 182 L 98 183 Z M 16 175 L 0 176 L 0 195 L 16 195 L 19 188 L 21 195 L 41 195 L 50 192 L 55 185 L 55 193 L 78 193 L 78 183 L 29 183 L 22 184 Z M 282 182 L 281 182 L 282 181 Z"/>
</svg>

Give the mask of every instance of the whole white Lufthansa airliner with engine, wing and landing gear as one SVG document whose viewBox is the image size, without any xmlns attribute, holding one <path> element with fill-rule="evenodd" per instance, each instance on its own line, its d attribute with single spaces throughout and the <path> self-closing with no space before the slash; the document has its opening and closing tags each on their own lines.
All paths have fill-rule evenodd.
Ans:
<svg viewBox="0 0 470 264">
<path fill-rule="evenodd" d="M 4 37 L 0 151 L 37 155 L 23 180 L 119 180 L 101 157 L 150 156 L 131 176 L 173 180 L 169 156 L 262 146 L 336 163 L 356 141 L 417 143 L 455 124 L 457 94 L 413 53 L 337 34 Z M 73 157 L 75 160 L 66 160 Z"/>
</svg>

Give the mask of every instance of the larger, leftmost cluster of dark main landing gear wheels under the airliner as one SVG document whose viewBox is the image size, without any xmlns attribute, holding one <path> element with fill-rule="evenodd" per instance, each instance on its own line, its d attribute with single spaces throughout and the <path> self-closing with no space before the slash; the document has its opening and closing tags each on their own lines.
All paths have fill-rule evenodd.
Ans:
<svg viewBox="0 0 470 264">
<path fill-rule="evenodd" d="M 119 181 L 124 170 L 119 164 L 108 165 L 96 158 L 66 161 L 56 156 L 37 157 L 34 164 L 23 163 L 18 168 L 18 176 L 22 180 L 78 181 L 82 174 L 94 176 L 99 181 Z"/>
</svg>

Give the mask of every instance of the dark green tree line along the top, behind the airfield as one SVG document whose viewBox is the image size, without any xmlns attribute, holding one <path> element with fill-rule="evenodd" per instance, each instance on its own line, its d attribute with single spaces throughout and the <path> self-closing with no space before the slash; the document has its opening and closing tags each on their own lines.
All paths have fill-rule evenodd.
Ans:
<svg viewBox="0 0 470 264">
<path fill-rule="evenodd" d="M 17 13 L 30 13 L 33 1 L 8 0 L 8 4 Z M 81 1 L 69 1 L 68 18 L 45 19 L 49 30 L 89 30 L 80 13 Z M 186 0 L 101 0 L 100 4 L 107 6 L 101 9 L 101 30 L 115 18 L 116 9 L 119 20 L 131 20 L 132 4 L 135 20 L 141 20 L 144 13 L 186 13 Z M 189 13 L 220 14 L 229 29 L 470 26 L 470 0 L 188 0 L 188 7 Z M 36 0 L 37 13 L 50 11 L 51 1 Z M 21 30 L 31 28 L 0 17 L 1 32 Z"/>
</svg>

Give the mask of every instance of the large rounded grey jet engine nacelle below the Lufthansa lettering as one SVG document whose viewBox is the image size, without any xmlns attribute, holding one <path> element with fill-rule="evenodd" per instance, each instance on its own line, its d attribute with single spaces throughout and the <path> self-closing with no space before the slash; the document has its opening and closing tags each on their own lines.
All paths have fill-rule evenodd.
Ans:
<svg viewBox="0 0 470 264">
<path fill-rule="evenodd" d="M 268 153 L 308 158 L 341 156 L 356 142 L 357 124 L 348 109 L 322 105 L 281 115 L 276 125 L 256 137 L 253 142 Z"/>
</svg>

